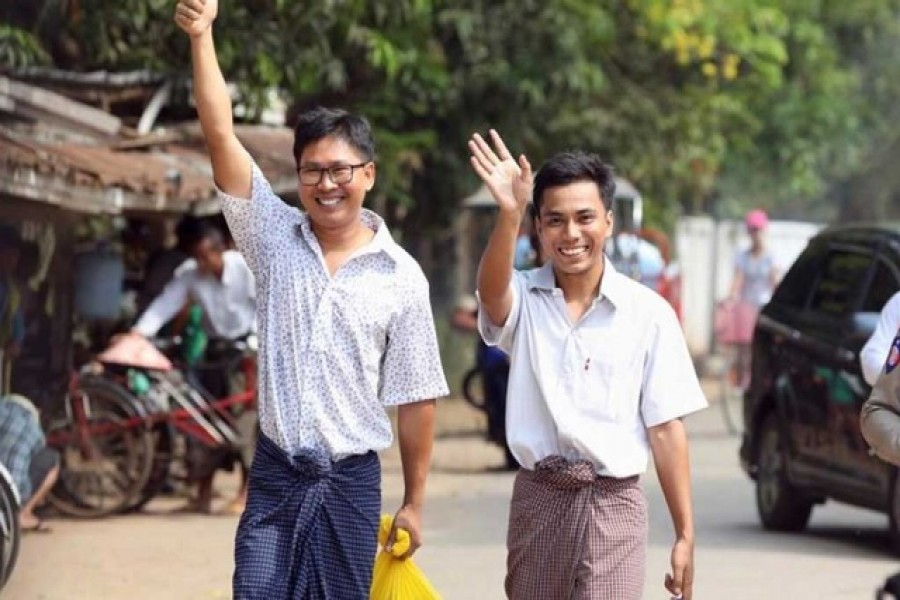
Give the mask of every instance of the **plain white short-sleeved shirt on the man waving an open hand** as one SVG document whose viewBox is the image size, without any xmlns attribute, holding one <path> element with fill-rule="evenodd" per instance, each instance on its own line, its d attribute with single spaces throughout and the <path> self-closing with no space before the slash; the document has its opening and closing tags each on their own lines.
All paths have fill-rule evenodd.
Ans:
<svg viewBox="0 0 900 600">
<path fill-rule="evenodd" d="M 506 435 L 519 463 L 592 461 L 600 475 L 643 473 L 647 428 L 706 407 L 675 312 L 606 259 L 600 294 L 572 324 L 553 268 L 515 272 L 503 327 L 479 311 L 485 342 L 510 355 Z"/>
</svg>

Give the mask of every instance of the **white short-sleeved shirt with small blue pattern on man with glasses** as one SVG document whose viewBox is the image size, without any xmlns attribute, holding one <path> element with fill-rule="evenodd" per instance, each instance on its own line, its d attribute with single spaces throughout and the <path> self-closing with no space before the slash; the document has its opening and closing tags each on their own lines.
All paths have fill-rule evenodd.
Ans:
<svg viewBox="0 0 900 600">
<path fill-rule="evenodd" d="M 252 168 L 251 200 L 219 197 L 256 275 L 260 427 L 291 454 L 387 448 L 386 406 L 448 393 L 428 281 L 368 210 L 374 238 L 330 275 L 308 216 Z"/>
</svg>

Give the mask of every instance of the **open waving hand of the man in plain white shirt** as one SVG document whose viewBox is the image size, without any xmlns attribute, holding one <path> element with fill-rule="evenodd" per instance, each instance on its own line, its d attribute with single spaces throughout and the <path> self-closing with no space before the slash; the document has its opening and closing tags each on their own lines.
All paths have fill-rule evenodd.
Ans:
<svg viewBox="0 0 900 600">
<path fill-rule="evenodd" d="M 501 210 L 524 211 L 531 197 L 531 165 L 524 154 L 517 162 L 500 134 L 493 129 L 490 136 L 494 143 L 493 149 L 477 133 L 469 140 L 472 168 L 490 190 Z"/>
</svg>

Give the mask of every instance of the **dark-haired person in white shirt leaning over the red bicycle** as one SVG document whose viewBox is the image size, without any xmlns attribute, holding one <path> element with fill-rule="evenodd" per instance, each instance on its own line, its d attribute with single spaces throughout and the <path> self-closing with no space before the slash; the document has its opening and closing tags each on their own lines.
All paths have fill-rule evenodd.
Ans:
<svg viewBox="0 0 900 600">
<path fill-rule="evenodd" d="M 185 247 L 191 259 L 182 264 L 147 310 L 140 316 L 132 333 L 152 337 L 192 302 L 202 310 L 203 326 L 208 334 L 201 365 L 189 369 L 188 375 L 212 398 L 223 398 L 237 390 L 231 381 L 235 358 L 239 351 L 235 342 L 256 331 L 256 284 L 243 256 L 227 250 L 222 232 L 213 225 L 200 223 Z M 216 470 L 230 469 L 237 460 L 242 466 L 241 488 L 227 506 L 226 512 L 239 514 L 246 504 L 247 475 L 253 457 L 256 420 L 255 411 L 247 411 L 238 419 L 241 438 L 247 443 L 239 453 L 231 449 L 209 451 L 199 444 L 189 452 L 189 477 L 198 483 L 197 496 L 185 510 L 209 513 L 212 504 L 212 482 Z"/>
</svg>

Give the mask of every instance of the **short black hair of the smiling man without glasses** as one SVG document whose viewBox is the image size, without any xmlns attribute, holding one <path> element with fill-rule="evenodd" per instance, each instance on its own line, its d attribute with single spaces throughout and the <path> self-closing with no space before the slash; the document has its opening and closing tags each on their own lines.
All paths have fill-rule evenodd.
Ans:
<svg viewBox="0 0 900 600">
<path fill-rule="evenodd" d="M 612 166 L 603 162 L 596 154 L 586 152 L 561 152 L 550 157 L 534 176 L 532 214 L 541 214 L 541 201 L 548 188 L 562 187 L 578 181 L 593 181 L 600 192 L 603 208 L 612 210 L 616 194 L 616 178 Z"/>
</svg>

